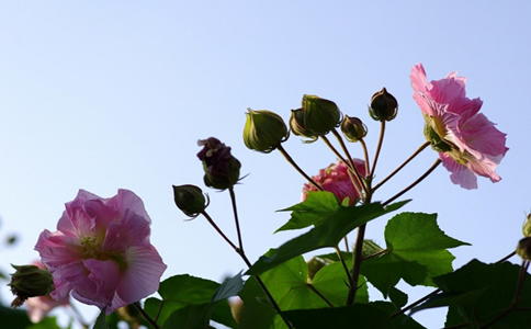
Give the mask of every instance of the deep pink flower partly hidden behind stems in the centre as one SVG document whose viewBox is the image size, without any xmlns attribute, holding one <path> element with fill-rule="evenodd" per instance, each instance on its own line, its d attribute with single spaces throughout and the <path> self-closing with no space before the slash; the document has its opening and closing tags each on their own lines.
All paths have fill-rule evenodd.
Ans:
<svg viewBox="0 0 531 329">
<path fill-rule="evenodd" d="M 362 177 L 365 175 L 365 162 L 360 159 L 353 159 L 354 166 Z M 334 193 L 341 202 L 344 197 L 349 197 L 349 205 L 353 205 L 360 195 L 355 191 L 352 181 L 350 180 L 348 167 L 340 160 L 336 163 L 319 170 L 319 174 L 312 177 L 312 179 L 319 184 L 323 190 Z M 314 185 L 306 183 L 303 188 L 303 197 L 305 201 L 308 192 L 319 191 Z"/>
</svg>

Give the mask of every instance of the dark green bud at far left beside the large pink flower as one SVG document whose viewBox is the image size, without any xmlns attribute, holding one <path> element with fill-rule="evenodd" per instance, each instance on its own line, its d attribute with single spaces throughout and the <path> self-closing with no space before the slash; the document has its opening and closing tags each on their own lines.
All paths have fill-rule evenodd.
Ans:
<svg viewBox="0 0 531 329">
<path fill-rule="evenodd" d="M 11 307 L 19 307 L 30 297 L 45 296 L 53 291 L 54 282 L 47 270 L 41 270 L 35 265 L 12 266 L 16 272 L 11 274 L 11 283 L 8 285 L 16 298 L 11 303 Z"/>
</svg>

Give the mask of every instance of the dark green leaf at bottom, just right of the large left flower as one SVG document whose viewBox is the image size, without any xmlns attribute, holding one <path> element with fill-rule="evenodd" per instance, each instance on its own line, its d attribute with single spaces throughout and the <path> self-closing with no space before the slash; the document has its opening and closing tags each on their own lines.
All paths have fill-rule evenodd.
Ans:
<svg viewBox="0 0 531 329">
<path fill-rule="evenodd" d="M 211 318 L 237 328 L 225 299 L 238 293 L 238 281 L 241 288 L 241 274 L 227 280 L 223 285 L 188 274 L 174 275 L 160 284 L 162 300 L 148 298 L 145 309 L 152 318 L 158 314 L 157 324 L 163 324 L 163 328 L 196 328 L 196 324 L 207 325 Z"/>
</svg>

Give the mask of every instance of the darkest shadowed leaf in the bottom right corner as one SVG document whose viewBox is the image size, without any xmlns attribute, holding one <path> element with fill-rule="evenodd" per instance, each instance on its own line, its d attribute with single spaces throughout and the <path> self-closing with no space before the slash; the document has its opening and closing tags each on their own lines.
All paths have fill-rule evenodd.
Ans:
<svg viewBox="0 0 531 329">
<path fill-rule="evenodd" d="M 447 295 L 450 305 L 447 326 L 468 322 L 470 328 L 484 326 L 507 310 L 515 298 L 520 266 L 509 262 L 485 264 L 472 260 L 453 273 L 433 279 Z M 428 300 L 429 302 L 429 300 Z M 436 299 L 432 303 L 437 303 Z M 531 318 L 531 275 L 524 274 L 520 302 L 512 310 L 499 319 L 492 328 L 529 328 Z"/>
</svg>

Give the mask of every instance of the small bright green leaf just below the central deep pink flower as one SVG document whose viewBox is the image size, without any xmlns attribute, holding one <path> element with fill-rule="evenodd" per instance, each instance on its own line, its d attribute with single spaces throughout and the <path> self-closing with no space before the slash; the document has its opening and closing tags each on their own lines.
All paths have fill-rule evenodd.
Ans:
<svg viewBox="0 0 531 329">
<path fill-rule="evenodd" d="M 304 202 L 279 211 L 292 212 L 292 217 L 275 232 L 319 225 L 328 216 L 334 215 L 339 207 L 338 198 L 331 192 L 318 191 L 308 193 Z"/>
</svg>

